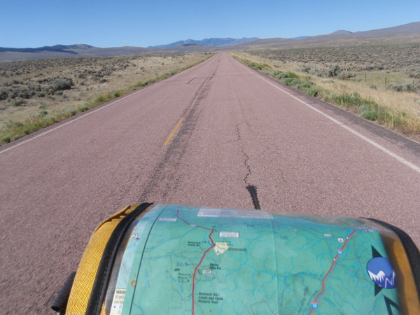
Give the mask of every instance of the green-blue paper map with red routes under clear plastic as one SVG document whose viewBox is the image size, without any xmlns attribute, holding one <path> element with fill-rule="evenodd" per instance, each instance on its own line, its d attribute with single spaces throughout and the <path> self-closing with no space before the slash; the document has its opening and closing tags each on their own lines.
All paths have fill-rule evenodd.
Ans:
<svg viewBox="0 0 420 315">
<path fill-rule="evenodd" d="M 356 219 L 158 204 L 119 260 L 112 315 L 399 313 L 381 235 Z"/>
</svg>

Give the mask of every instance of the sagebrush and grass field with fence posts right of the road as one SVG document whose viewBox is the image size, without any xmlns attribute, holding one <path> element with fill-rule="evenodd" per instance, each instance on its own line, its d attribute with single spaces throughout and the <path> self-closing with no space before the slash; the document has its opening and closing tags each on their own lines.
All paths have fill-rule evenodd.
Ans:
<svg viewBox="0 0 420 315">
<path fill-rule="evenodd" d="M 420 139 L 420 45 L 231 55 L 286 85 Z"/>
</svg>

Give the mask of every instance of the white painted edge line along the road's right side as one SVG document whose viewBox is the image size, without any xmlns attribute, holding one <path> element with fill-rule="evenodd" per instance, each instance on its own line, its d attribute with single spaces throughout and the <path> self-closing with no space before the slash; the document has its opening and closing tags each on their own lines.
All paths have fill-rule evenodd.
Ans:
<svg viewBox="0 0 420 315">
<path fill-rule="evenodd" d="M 353 130 L 351 127 L 346 126 L 346 125 L 340 123 L 337 119 L 332 118 L 331 116 L 329 116 L 328 114 L 324 113 L 323 111 L 320 111 L 319 109 L 316 109 L 314 106 L 311 106 L 311 105 L 307 104 L 307 102 L 302 101 L 302 99 L 298 99 L 297 97 L 295 97 L 294 95 L 290 94 L 286 90 L 283 90 L 278 85 L 275 85 L 274 83 L 270 82 L 269 80 L 266 80 L 265 78 L 262 78 L 262 76 L 259 76 L 255 72 L 251 71 L 251 69 L 249 69 L 248 66 L 245 66 L 244 64 L 241 64 L 241 66 L 244 66 L 244 68 L 246 70 L 250 71 L 255 76 L 258 76 L 258 78 L 260 78 L 261 80 L 264 80 L 265 82 L 269 83 L 270 85 L 276 87 L 276 89 L 281 90 L 281 92 L 284 92 L 284 93 L 288 94 L 288 96 L 293 97 L 293 99 L 296 99 L 297 102 L 300 102 L 300 103 L 304 104 L 305 106 L 309 107 L 309 109 L 312 109 L 312 110 L 316 111 L 317 113 L 320 113 L 322 116 L 324 116 L 325 118 L 328 118 L 333 123 L 336 123 L 337 125 L 343 127 L 345 130 L 348 130 L 352 134 L 355 134 L 357 137 L 359 137 L 360 139 L 365 140 L 367 143 L 372 144 L 372 146 L 374 146 L 376 148 L 379 148 L 379 150 L 381 150 L 382 152 L 390 155 L 392 158 L 395 158 L 395 160 L 398 160 L 402 164 L 406 165 L 407 167 L 409 167 L 411 169 L 414 169 L 414 171 L 416 171 L 417 173 L 420 174 L 420 167 L 414 165 L 412 162 L 409 162 L 409 161 L 405 160 L 405 158 L 400 157 L 400 155 L 397 155 L 397 154 L 393 153 L 392 151 L 389 151 L 387 148 L 384 148 L 380 144 L 377 144 L 375 141 L 373 141 L 373 140 L 371 140 L 371 139 L 363 136 L 363 134 L 360 134 L 359 132 L 356 132 L 356 130 Z"/>
</svg>

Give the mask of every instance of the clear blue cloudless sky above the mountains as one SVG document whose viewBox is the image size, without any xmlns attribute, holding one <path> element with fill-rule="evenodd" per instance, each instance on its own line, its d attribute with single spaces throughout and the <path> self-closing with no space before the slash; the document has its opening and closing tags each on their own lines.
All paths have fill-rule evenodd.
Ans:
<svg viewBox="0 0 420 315">
<path fill-rule="evenodd" d="M 0 0 L 0 47 L 293 38 L 420 21 L 420 0 Z"/>
</svg>

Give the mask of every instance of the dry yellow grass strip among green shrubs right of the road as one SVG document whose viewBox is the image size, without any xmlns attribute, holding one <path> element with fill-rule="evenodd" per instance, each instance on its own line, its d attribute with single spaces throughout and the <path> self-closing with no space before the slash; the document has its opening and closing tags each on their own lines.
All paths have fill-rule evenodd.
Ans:
<svg viewBox="0 0 420 315">
<path fill-rule="evenodd" d="M 351 76 L 349 73 L 350 78 L 342 80 L 320 77 L 302 71 L 304 62 L 279 61 L 273 57 L 262 57 L 265 56 L 263 53 L 235 52 L 235 55 L 239 59 L 250 60 L 255 64 L 266 64 L 268 67 L 261 70 L 265 73 L 273 74 L 275 71 L 294 72 L 303 81 L 311 82 L 312 87 L 316 87 L 318 97 L 338 106 L 344 105 L 346 109 L 355 113 L 361 113 L 359 106 L 366 102 L 372 110 L 379 113 L 378 117 L 368 119 L 376 120 L 382 125 L 416 138 L 420 136 L 420 94 L 417 92 L 397 92 L 386 87 L 389 83 L 399 85 L 412 82 L 416 84 L 418 82 L 418 79 L 410 78 L 409 73 L 405 73 L 403 70 L 354 71 Z M 315 60 L 312 63 L 315 66 Z M 400 63 L 407 65 L 407 62 Z M 325 66 L 328 66 L 328 64 Z M 415 71 L 416 69 L 410 68 L 410 70 Z M 385 84 L 385 79 L 387 84 Z M 374 82 L 376 82 L 375 87 L 372 86 Z M 356 99 L 360 99 L 360 104 L 349 106 L 349 104 L 339 104 L 335 101 L 337 97 L 353 95 L 356 95 Z"/>
</svg>

